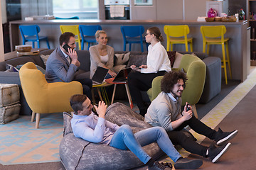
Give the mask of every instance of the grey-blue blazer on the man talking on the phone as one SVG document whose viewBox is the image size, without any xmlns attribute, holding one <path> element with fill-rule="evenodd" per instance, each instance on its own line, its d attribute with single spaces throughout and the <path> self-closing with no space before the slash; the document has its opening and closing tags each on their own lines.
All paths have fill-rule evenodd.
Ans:
<svg viewBox="0 0 256 170">
<path fill-rule="evenodd" d="M 63 55 L 60 47 L 57 47 L 48 57 L 46 62 L 46 80 L 48 82 L 70 82 L 75 77 L 78 67 L 75 64 L 69 64 Z"/>
</svg>

